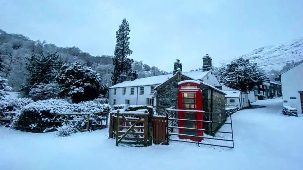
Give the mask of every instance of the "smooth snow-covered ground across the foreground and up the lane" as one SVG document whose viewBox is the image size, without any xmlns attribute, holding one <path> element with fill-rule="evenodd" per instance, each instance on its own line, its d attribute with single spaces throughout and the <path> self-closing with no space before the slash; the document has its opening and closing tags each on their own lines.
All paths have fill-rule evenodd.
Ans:
<svg viewBox="0 0 303 170">
<path fill-rule="evenodd" d="M 170 142 L 116 147 L 108 129 L 55 137 L 0 128 L 0 167 L 9 169 L 302 169 L 303 116 L 280 114 L 282 98 L 233 114 L 235 148 Z M 226 127 L 223 127 L 226 128 Z"/>
</svg>

